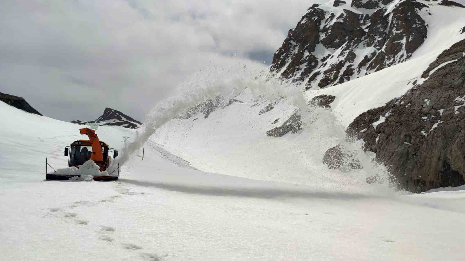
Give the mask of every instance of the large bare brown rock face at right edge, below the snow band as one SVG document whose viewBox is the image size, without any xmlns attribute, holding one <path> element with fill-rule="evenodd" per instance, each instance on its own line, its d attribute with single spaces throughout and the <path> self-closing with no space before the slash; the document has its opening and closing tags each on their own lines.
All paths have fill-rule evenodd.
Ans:
<svg viewBox="0 0 465 261">
<path fill-rule="evenodd" d="M 410 191 L 465 184 L 465 39 L 442 52 L 411 91 L 369 110 L 347 132 Z"/>
</svg>

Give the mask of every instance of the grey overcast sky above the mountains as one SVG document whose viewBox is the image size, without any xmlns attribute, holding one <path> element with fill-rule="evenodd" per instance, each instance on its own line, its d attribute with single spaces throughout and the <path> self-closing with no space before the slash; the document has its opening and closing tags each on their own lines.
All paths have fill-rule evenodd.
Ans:
<svg viewBox="0 0 465 261">
<path fill-rule="evenodd" d="M 143 120 L 208 63 L 272 61 L 326 0 L 2 0 L 0 92 L 60 120 L 106 107 Z"/>
</svg>

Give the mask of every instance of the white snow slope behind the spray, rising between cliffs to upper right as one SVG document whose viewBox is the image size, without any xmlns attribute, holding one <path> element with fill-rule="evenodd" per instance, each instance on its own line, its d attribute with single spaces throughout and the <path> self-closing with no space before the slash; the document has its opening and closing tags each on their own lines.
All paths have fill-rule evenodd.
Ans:
<svg viewBox="0 0 465 261">
<path fill-rule="evenodd" d="M 361 144 L 349 146 L 358 151 L 365 170 L 328 170 L 321 164 L 322 158 L 326 150 L 344 142 L 345 129 L 355 117 L 405 94 L 422 81 L 421 74 L 441 52 L 465 38 L 465 33 L 460 33 L 464 25 L 462 8 L 433 4 L 429 10 L 432 15 L 425 16 L 428 37 L 404 63 L 303 93 L 299 86 L 289 83 L 276 87 L 269 81 L 258 87 L 249 86 L 235 97 L 243 103 L 217 109 L 207 118 L 199 113 L 186 120 L 170 120 L 152 139 L 203 171 L 357 190 L 367 176 L 385 175 L 379 166 L 371 166 L 372 155 L 360 152 Z M 207 82 L 194 83 L 202 84 Z M 226 89 L 233 86 L 226 85 Z M 307 102 L 319 95 L 335 97 L 331 111 L 317 109 L 305 115 Z M 274 108 L 260 114 L 268 104 Z M 297 110 L 304 111 L 302 131 L 279 138 L 266 136 L 266 131 L 283 124 Z"/>
</svg>

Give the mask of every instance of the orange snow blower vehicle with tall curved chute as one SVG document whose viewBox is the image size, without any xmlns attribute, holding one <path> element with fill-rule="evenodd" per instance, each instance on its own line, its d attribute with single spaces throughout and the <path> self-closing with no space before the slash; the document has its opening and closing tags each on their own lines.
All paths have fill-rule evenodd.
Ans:
<svg viewBox="0 0 465 261">
<path fill-rule="evenodd" d="M 94 130 L 89 128 L 79 129 L 81 134 L 86 134 L 88 140 L 77 140 L 65 147 L 65 156 L 68 157 L 68 167 L 76 167 L 79 169 L 88 160 L 93 160 L 100 167 L 100 171 L 105 171 L 111 164 L 110 153 L 113 152 L 113 158 L 118 156 L 118 150 L 110 148 L 108 144 L 99 140 L 99 137 Z M 47 163 L 48 164 L 48 163 Z M 119 167 L 115 169 L 119 172 Z M 113 170 L 113 171 L 115 171 Z M 113 174 L 108 173 L 108 174 Z M 54 174 L 46 174 L 46 179 L 69 179 L 78 175 L 60 174 L 55 171 Z M 119 176 L 119 175 L 118 175 Z M 117 180 L 118 176 L 93 176 L 94 180 Z"/>
</svg>

